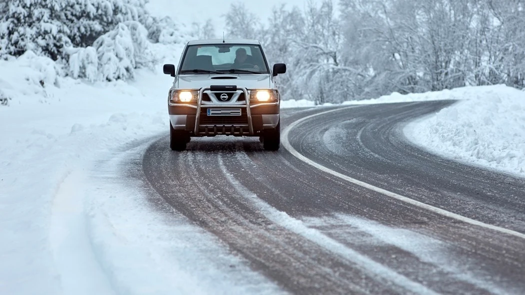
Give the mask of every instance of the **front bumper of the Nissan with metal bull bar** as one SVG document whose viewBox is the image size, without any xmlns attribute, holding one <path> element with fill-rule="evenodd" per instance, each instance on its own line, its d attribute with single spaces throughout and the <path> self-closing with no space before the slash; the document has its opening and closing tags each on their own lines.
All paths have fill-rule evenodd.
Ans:
<svg viewBox="0 0 525 295">
<path fill-rule="evenodd" d="M 279 124 L 278 101 L 250 105 L 247 89 L 238 88 L 238 91 L 244 92 L 244 101 L 203 104 L 203 93 L 209 90 L 210 88 L 199 90 L 196 104 L 169 104 L 170 122 L 175 130 L 185 130 L 193 136 L 259 136 L 264 129 L 275 128 Z M 241 116 L 207 116 L 208 108 L 240 108 Z"/>
</svg>

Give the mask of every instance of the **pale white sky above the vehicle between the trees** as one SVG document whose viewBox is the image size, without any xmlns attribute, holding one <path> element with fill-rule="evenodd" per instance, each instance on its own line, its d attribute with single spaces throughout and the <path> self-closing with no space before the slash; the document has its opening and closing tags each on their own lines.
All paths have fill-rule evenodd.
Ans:
<svg viewBox="0 0 525 295">
<path fill-rule="evenodd" d="M 287 7 L 302 8 L 308 0 L 150 0 L 148 8 L 155 16 L 170 15 L 173 19 L 184 21 L 188 25 L 193 21 L 204 23 L 211 18 L 216 34 L 220 35 L 225 30 L 223 14 L 228 12 L 232 3 L 237 2 L 244 3 L 250 12 L 257 13 L 260 20 L 266 21 L 275 5 L 286 3 Z M 314 0 L 314 2 L 320 3 L 321 0 Z"/>
</svg>

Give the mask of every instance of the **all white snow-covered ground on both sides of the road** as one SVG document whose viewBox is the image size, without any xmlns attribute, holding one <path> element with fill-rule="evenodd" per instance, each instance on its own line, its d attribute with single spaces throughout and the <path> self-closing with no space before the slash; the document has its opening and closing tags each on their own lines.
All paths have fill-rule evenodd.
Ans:
<svg viewBox="0 0 525 295">
<path fill-rule="evenodd" d="M 181 47 L 152 50 L 176 63 Z M 168 128 L 172 78 L 160 65 L 111 83 L 60 78 L 53 62 L 30 52 L 0 68 L 0 95 L 12 99 L 0 106 L 0 293 L 278 291 L 119 177 L 122 160 Z M 438 154 L 525 176 L 524 97 L 497 85 L 345 104 L 462 100 L 406 135 Z M 313 103 L 282 103 L 295 106 Z"/>
</svg>

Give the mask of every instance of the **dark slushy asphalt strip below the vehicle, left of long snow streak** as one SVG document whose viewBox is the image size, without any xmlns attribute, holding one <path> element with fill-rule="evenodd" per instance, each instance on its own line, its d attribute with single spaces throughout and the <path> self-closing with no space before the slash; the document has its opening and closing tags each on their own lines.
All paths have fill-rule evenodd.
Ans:
<svg viewBox="0 0 525 295">
<path fill-rule="evenodd" d="M 159 140 L 146 151 L 143 171 L 177 212 L 216 235 L 233 253 L 247 258 L 252 269 L 288 291 L 413 293 L 275 224 L 254 208 L 232 187 L 218 162 L 220 155 L 235 158 L 245 144 L 261 149 L 258 140 L 197 139 L 187 151 L 173 153 L 165 139 Z"/>
</svg>

